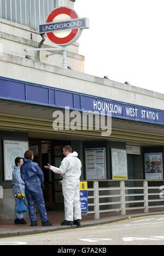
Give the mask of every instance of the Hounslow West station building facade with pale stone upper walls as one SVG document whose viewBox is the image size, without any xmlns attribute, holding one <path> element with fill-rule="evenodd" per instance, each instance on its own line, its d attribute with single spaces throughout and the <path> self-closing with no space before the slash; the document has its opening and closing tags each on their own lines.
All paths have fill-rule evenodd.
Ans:
<svg viewBox="0 0 164 256">
<path fill-rule="evenodd" d="M 59 167 L 64 145 L 72 145 L 79 153 L 81 180 L 163 180 L 164 95 L 85 74 L 78 43 L 67 47 L 72 70 L 62 69 L 61 53 L 47 56 L 52 51 L 26 51 L 38 48 L 40 42 L 42 48 L 54 47 L 39 35 L 37 24 L 60 0 L 20 2 L 20 8 L 27 4 L 26 13 L 24 8 L 18 11 L 19 5 L 0 0 L 0 218 L 13 218 L 11 159 L 14 152 L 27 147 L 43 168 L 48 209 L 61 210 L 63 198 L 60 177 L 44 170 L 44 165 Z M 65 5 L 73 8 L 74 2 L 66 0 Z M 53 113 L 64 113 L 66 106 L 80 112 L 112 113 L 112 134 L 102 136 L 101 130 L 89 129 L 55 131 Z M 149 173 L 149 168 L 154 172 Z"/>
</svg>

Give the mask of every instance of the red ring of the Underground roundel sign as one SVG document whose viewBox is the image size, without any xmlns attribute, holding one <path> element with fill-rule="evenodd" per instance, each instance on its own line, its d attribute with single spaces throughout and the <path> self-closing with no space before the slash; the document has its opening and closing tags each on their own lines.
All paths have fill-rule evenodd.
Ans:
<svg viewBox="0 0 164 256">
<path fill-rule="evenodd" d="M 55 19 L 55 17 L 60 14 L 67 14 L 72 19 L 78 19 L 78 15 L 75 12 L 73 12 L 73 10 L 66 7 L 61 7 L 56 10 L 53 10 L 50 13 L 50 15 L 48 16 L 48 19 L 46 20 L 46 23 L 52 22 Z M 46 35 L 53 43 L 66 44 L 71 42 L 75 38 L 75 36 L 77 36 L 77 33 L 78 33 L 78 29 L 73 29 L 72 32 L 67 37 L 63 37 L 63 38 L 56 37 L 53 32 L 46 33 Z"/>
</svg>

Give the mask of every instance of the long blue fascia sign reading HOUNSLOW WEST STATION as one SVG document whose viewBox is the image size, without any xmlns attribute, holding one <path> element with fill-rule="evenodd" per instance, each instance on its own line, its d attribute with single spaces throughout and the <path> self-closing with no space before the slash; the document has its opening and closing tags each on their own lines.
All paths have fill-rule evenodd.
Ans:
<svg viewBox="0 0 164 256">
<path fill-rule="evenodd" d="M 163 110 L 4 77 L 0 77 L 0 99 L 60 109 L 69 106 L 70 110 L 104 111 L 106 114 L 110 113 L 113 118 L 164 126 Z"/>
</svg>

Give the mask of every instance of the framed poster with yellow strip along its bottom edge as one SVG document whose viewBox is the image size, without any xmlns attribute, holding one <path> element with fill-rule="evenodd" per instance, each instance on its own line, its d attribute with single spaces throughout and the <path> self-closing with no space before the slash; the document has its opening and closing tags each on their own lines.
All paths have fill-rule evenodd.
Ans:
<svg viewBox="0 0 164 256">
<path fill-rule="evenodd" d="M 126 149 L 112 149 L 112 179 L 127 180 Z"/>
</svg>

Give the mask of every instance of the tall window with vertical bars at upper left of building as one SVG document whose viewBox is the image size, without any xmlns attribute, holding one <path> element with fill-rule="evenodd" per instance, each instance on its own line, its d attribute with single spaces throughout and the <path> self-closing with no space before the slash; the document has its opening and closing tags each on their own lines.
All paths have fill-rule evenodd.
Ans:
<svg viewBox="0 0 164 256">
<path fill-rule="evenodd" d="M 44 23 L 56 0 L 0 0 L 0 18 L 32 29 Z"/>
</svg>

